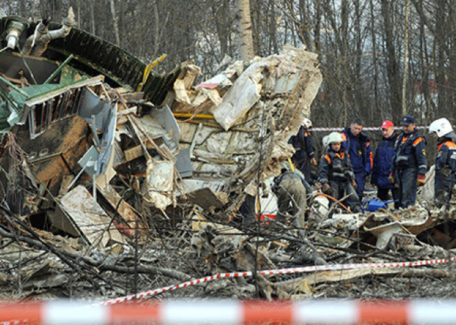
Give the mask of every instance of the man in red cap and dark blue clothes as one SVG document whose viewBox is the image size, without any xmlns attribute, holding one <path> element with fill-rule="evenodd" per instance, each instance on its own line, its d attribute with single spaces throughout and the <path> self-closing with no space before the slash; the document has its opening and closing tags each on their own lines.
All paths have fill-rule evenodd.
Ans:
<svg viewBox="0 0 456 325">
<path fill-rule="evenodd" d="M 395 142 L 397 133 L 395 124 L 386 120 L 381 124 L 383 138 L 377 146 L 372 167 L 371 184 L 377 186 L 377 197 L 382 201 L 388 200 L 388 192 L 391 190 L 392 199 L 395 200 L 395 208 L 399 208 L 399 188 L 391 184 L 388 177 L 391 173 L 392 158 L 395 156 Z"/>
</svg>

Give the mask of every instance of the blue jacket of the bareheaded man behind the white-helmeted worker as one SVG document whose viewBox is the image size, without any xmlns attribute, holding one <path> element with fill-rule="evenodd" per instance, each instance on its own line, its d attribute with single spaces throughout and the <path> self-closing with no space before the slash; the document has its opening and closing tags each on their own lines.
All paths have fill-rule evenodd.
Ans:
<svg viewBox="0 0 456 325">
<path fill-rule="evenodd" d="M 350 128 L 343 129 L 343 149 L 348 151 L 354 173 L 364 172 L 370 174 L 372 170 L 372 150 L 370 139 L 364 132 L 359 132 L 356 137 Z"/>
</svg>

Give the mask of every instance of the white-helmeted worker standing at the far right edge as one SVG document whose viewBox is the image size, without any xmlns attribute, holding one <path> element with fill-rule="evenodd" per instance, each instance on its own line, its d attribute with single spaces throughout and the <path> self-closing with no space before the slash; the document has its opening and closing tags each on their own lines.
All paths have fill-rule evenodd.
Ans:
<svg viewBox="0 0 456 325">
<path fill-rule="evenodd" d="M 448 119 L 436 119 L 429 126 L 429 133 L 437 139 L 435 157 L 435 205 L 450 208 L 449 202 L 455 185 L 456 134 Z"/>
</svg>

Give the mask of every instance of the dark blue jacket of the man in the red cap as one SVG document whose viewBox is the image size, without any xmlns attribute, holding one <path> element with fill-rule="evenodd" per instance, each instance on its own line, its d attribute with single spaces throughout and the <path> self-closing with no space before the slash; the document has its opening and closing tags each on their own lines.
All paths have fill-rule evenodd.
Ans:
<svg viewBox="0 0 456 325">
<path fill-rule="evenodd" d="M 395 184 L 391 184 L 388 177 L 391 172 L 392 158 L 395 157 L 396 139 L 396 132 L 388 138 L 383 137 L 375 150 L 371 183 L 378 188 L 395 188 Z"/>
</svg>

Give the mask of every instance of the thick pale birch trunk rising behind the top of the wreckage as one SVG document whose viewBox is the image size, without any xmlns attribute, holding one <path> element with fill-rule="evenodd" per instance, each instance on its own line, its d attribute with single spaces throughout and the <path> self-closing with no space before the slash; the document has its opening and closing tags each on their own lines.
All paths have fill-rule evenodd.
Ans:
<svg viewBox="0 0 456 325">
<path fill-rule="evenodd" d="M 240 59 L 250 61 L 254 58 L 254 41 L 251 35 L 249 0 L 238 0 L 238 46 Z"/>
</svg>

